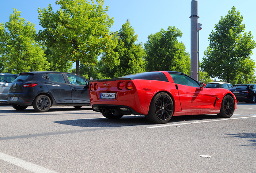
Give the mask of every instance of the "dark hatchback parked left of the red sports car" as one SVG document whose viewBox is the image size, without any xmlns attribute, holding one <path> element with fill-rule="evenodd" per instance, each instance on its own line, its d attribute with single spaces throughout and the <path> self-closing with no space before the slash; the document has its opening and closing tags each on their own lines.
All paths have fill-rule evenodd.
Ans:
<svg viewBox="0 0 256 173">
<path fill-rule="evenodd" d="M 90 106 L 89 80 L 67 72 L 22 72 L 10 86 L 8 103 L 17 110 L 33 106 L 46 112 L 52 106 Z"/>
</svg>

